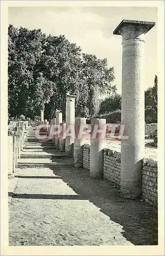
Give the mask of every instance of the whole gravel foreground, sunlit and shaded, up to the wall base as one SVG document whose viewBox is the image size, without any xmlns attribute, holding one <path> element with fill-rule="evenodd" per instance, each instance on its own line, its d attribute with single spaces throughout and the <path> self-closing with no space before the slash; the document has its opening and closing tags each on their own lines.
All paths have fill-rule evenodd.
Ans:
<svg viewBox="0 0 165 256">
<path fill-rule="evenodd" d="M 157 212 L 76 168 L 18 169 L 9 245 L 155 245 Z"/>
</svg>

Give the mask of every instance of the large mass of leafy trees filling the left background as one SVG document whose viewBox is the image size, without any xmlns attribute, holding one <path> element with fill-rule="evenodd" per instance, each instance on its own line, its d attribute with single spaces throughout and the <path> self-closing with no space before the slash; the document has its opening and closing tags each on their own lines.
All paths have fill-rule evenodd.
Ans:
<svg viewBox="0 0 165 256">
<path fill-rule="evenodd" d="M 63 35 L 38 30 L 8 29 L 8 112 L 30 118 L 44 108 L 47 119 L 55 110 L 65 114 L 66 93 L 76 95 L 76 116 L 98 112 L 97 97 L 115 91 L 113 68 L 106 59 L 82 54 Z M 97 111 L 96 111 L 97 109 Z M 65 118 L 65 117 L 64 117 Z"/>
</svg>

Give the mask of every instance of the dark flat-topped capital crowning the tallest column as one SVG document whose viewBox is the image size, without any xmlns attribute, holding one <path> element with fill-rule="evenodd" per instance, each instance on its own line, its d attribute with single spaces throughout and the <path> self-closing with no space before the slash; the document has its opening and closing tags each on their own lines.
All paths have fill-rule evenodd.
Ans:
<svg viewBox="0 0 165 256">
<path fill-rule="evenodd" d="M 114 35 L 122 35 L 123 40 L 142 38 L 155 22 L 143 22 L 140 20 L 123 19 L 122 22 L 113 31 Z"/>
</svg>

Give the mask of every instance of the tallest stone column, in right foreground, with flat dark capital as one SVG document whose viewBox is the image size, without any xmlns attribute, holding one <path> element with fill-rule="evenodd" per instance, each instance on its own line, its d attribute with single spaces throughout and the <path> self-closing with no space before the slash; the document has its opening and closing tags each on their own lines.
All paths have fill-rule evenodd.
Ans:
<svg viewBox="0 0 165 256">
<path fill-rule="evenodd" d="M 122 35 L 122 124 L 128 139 L 121 141 L 121 193 L 137 198 L 142 193 L 145 149 L 145 34 L 154 22 L 123 20 L 113 34 Z"/>
</svg>

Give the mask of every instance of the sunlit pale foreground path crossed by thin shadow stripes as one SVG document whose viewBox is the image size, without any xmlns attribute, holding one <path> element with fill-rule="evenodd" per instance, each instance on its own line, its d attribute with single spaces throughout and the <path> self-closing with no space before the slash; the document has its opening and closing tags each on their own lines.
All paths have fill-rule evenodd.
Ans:
<svg viewBox="0 0 165 256">
<path fill-rule="evenodd" d="M 18 176 L 10 205 L 10 245 L 131 244 L 120 224 L 50 168 L 20 169 Z"/>
</svg>

